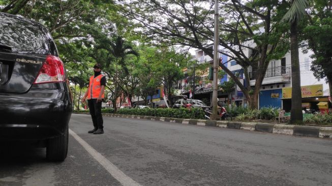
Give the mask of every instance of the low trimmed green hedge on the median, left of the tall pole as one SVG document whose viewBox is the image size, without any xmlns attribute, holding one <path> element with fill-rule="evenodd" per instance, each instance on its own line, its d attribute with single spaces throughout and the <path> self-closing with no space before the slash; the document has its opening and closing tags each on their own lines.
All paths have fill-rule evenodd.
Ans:
<svg viewBox="0 0 332 186">
<path fill-rule="evenodd" d="M 180 109 L 119 109 L 117 114 L 127 115 L 144 115 L 144 116 L 156 116 L 156 117 L 175 117 L 185 119 L 204 119 L 205 112 L 201 108 L 192 108 L 191 110 Z"/>
</svg>

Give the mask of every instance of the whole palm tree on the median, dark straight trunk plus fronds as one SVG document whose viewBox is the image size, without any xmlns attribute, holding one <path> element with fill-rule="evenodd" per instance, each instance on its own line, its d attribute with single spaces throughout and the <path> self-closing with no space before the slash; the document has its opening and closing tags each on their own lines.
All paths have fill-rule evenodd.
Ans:
<svg viewBox="0 0 332 186">
<path fill-rule="evenodd" d="M 291 106 L 291 123 L 302 123 L 303 113 L 301 109 L 301 78 L 298 59 L 298 38 L 297 23 L 306 14 L 306 8 L 309 6 L 309 0 L 292 0 L 292 5 L 282 18 L 282 21 L 290 23 L 290 56 L 292 71 L 292 106 Z"/>
</svg>

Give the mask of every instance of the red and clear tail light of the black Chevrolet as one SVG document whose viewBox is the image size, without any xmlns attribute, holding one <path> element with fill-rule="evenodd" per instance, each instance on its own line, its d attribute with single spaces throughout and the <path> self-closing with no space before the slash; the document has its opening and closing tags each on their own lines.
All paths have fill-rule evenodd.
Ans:
<svg viewBox="0 0 332 186">
<path fill-rule="evenodd" d="M 64 63 L 57 56 L 47 55 L 34 84 L 65 81 Z"/>
</svg>

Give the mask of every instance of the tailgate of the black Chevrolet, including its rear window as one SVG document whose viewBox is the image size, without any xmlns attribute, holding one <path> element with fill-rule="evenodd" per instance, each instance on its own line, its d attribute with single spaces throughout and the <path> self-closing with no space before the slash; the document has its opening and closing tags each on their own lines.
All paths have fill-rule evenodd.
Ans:
<svg viewBox="0 0 332 186">
<path fill-rule="evenodd" d="M 44 26 L 10 14 L 0 16 L 0 92 L 28 91 L 49 54 L 57 55 L 56 47 Z"/>
</svg>

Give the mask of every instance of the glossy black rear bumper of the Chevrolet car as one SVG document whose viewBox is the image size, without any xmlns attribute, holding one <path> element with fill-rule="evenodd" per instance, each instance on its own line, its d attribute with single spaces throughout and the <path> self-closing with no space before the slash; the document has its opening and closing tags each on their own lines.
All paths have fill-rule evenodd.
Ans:
<svg viewBox="0 0 332 186">
<path fill-rule="evenodd" d="M 48 139 L 66 131 L 72 102 L 65 90 L 0 94 L 0 139 Z"/>
</svg>

